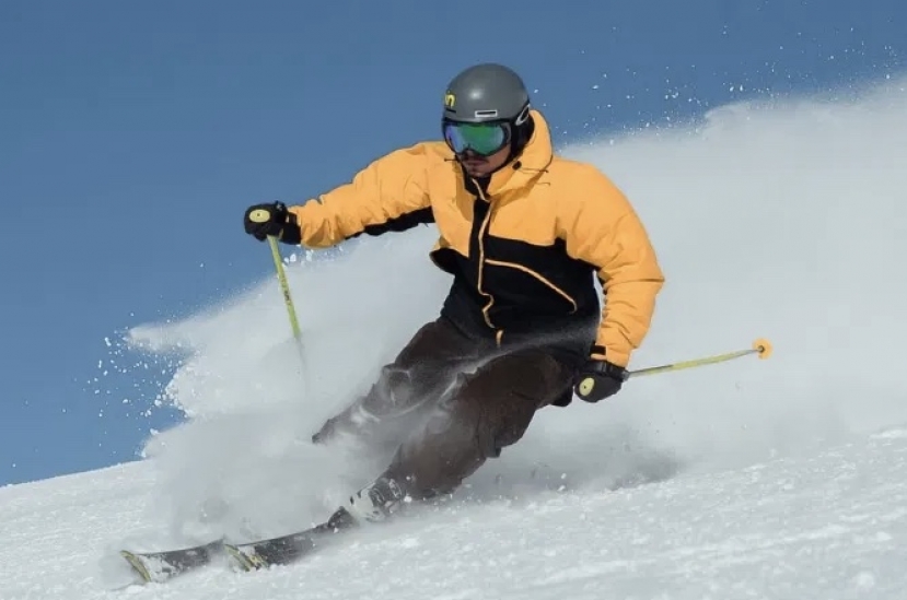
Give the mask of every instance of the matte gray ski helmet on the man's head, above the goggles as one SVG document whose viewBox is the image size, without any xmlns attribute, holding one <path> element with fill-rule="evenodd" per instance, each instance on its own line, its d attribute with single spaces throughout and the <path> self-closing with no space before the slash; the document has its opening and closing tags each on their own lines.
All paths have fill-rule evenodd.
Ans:
<svg viewBox="0 0 907 600">
<path fill-rule="evenodd" d="M 462 71 L 444 94 L 444 119 L 460 122 L 507 120 L 522 125 L 530 94 L 523 80 L 502 64 L 484 63 Z"/>
</svg>

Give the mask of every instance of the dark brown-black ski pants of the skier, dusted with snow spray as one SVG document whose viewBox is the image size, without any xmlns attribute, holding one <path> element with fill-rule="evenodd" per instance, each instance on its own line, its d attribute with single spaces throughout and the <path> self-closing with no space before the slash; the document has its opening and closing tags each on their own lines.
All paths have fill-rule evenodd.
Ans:
<svg viewBox="0 0 907 600">
<path fill-rule="evenodd" d="M 516 443 L 535 412 L 572 393 L 575 369 L 544 348 L 502 350 L 444 317 L 422 326 L 369 392 L 315 434 L 385 447 L 384 475 L 416 499 L 455 490 Z"/>
</svg>

